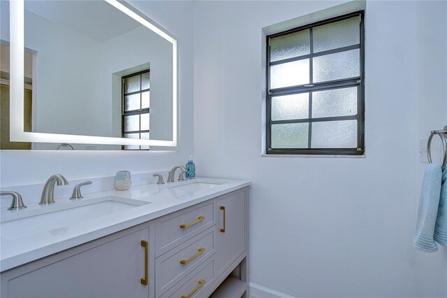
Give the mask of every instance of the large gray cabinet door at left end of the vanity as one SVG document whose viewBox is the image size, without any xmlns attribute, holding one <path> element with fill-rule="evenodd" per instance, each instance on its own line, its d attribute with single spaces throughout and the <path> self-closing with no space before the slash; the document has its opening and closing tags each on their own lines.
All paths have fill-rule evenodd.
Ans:
<svg viewBox="0 0 447 298">
<path fill-rule="evenodd" d="M 146 259 L 150 248 L 142 246 L 142 241 L 149 242 L 149 227 L 119 233 L 118 238 L 114 234 L 111 241 L 64 255 L 47 266 L 33 270 L 25 265 L 26 272 L 15 277 L 2 274 L 2 279 L 8 278 L 8 297 L 153 297 L 154 283 L 145 276 L 149 266 L 145 260 L 152 259 L 153 265 L 154 257 L 147 255 Z M 141 278 L 147 278 L 149 285 L 143 285 Z"/>
</svg>

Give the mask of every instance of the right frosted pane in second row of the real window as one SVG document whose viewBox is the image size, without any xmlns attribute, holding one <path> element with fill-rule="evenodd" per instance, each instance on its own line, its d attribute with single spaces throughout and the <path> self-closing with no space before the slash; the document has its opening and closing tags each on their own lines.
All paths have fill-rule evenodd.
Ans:
<svg viewBox="0 0 447 298">
<path fill-rule="evenodd" d="M 360 76 L 360 50 L 314 57 L 314 83 Z"/>
</svg>

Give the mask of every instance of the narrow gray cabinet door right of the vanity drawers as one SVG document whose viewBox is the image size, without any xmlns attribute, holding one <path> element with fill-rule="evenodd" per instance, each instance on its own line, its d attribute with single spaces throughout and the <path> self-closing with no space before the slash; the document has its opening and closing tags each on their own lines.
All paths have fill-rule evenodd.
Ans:
<svg viewBox="0 0 447 298">
<path fill-rule="evenodd" d="M 245 190 L 217 198 L 216 276 L 220 276 L 247 246 L 246 203 Z"/>
</svg>

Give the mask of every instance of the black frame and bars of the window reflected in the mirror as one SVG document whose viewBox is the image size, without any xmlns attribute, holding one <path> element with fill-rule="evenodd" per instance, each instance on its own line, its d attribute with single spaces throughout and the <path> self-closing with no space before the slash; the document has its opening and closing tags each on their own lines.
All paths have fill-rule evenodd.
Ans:
<svg viewBox="0 0 447 298">
<path fill-rule="evenodd" d="M 122 134 L 122 138 L 124 138 L 124 134 L 145 134 L 145 133 L 149 133 L 149 130 L 150 130 L 150 127 L 149 127 L 149 129 L 141 130 L 141 120 L 140 120 L 140 130 L 129 131 L 129 132 L 125 132 L 124 131 L 124 117 L 125 116 L 142 115 L 142 114 L 149 114 L 150 115 L 150 108 L 140 108 L 139 110 L 135 110 L 135 111 L 124 111 L 124 106 L 125 106 L 124 99 L 125 99 L 126 96 L 133 95 L 133 94 L 140 94 L 140 106 L 141 106 L 141 104 L 142 104 L 142 93 L 150 91 L 150 86 L 149 86 L 149 88 L 147 88 L 145 90 L 142 90 L 141 75 L 143 73 L 149 73 L 149 78 L 150 78 L 150 69 L 145 69 L 144 71 L 138 71 L 136 73 L 131 73 L 129 75 L 122 76 L 122 78 L 121 78 L 121 94 L 122 94 L 121 95 L 121 111 L 122 111 L 122 113 L 121 113 L 121 134 Z M 124 90 L 125 90 L 124 82 L 125 82 L 126 78 L 131 78 L 133 76 L 140 76 L 140 90 L 135 91 L 135 92 L 126 93 L 126 92 L 124 92 Z M 149 82 L 150 82 L 150 79 L 149 79 Z M 135 146 L 138 146 L 138 145 L 135 145 Z M 138 148 L 138 149 L 127 149 L 126 146 L 122 146 L 121 149 L 122 150 L 126 150 L 126 151 L 150 150 L 149 148 L 142 149 L 141 146 L 139 146 L 139 147 L 140 148 Z"/>
</svg>

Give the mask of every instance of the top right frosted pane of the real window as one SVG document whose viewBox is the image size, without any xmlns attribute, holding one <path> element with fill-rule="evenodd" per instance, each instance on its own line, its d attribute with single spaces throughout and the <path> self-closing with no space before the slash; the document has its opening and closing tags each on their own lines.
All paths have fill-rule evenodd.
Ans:
<svg viewBox="0 0 447 298">
<path fill-rule="evenodd" d="M 314 27 L 314 52 L 360 43 L 360 17 Z"/>
</svg>

